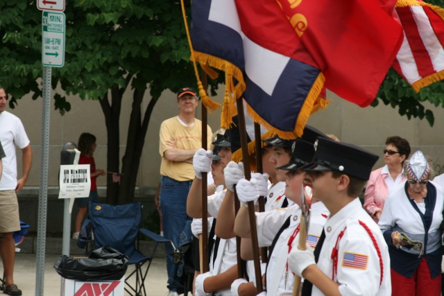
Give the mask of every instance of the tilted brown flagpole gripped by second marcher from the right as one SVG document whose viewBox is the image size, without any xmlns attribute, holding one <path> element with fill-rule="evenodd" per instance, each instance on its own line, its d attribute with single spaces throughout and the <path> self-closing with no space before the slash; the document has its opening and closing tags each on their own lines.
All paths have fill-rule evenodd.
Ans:
<svg viewBox="0 0 444 296">
<path fill-rule="evenodd" d="M 241 149 L 242 149 L 242 159 L 244 162 L 244 174 L 246 180 L 250 180 L 250 160 L 248 159 L 248 143 L 246 137 L 246 125 L 244 117 L 244 104 L 241 99 L 236 100 L 237 114 L 239 116 L 239 134 L 241 137 Z M 260 139 L 260 137 L 259 137 Z M 259 245 L 257 243 L 257 227 L 256 227 L 256 216 L 255 216 L 255 204 L 254 202 L 248 202 L 248 216 L 250 218 L 250 230 L 251 230 L 251 245 L 253 246 L 253 260 L 255 263 L 255 278 L 257 293 L 262 292 L 262 277 L 261 277 L 261 267 L 259 262 Z"/>
</svg>

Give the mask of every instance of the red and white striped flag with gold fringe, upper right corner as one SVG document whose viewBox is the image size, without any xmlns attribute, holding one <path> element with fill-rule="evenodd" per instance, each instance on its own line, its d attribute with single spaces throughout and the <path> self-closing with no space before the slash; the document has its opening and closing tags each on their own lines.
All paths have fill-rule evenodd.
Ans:
<svg viewBox="0 0 444 296">
<path fill-rule="evenodd" d="M 393 68 L 415 89 L 444 79 L 444 10 L 418 0 L 398 1 L 404 40 Z"/>
</svg>

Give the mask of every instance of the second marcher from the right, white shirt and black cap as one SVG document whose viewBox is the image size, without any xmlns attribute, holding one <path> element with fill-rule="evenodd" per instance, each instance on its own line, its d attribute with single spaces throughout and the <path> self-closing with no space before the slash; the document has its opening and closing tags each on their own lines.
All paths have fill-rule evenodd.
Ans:
<svg viewBox="0 0 444 296">
<path fill-rule="evenodd" d="M 288 269 L 287 256 L 290 250 L 298 245 L 299 240 L 302 180 L 305 177 L 305 172 L 300 171 L 300 168 L 310 162 L 314 155 L 313 143 L 296 139 L 294 146 L 290 162 L 280 167 L 281 170 L 287 171 L 285 194 L 294 204 L 286 209 L 256 213 L 259 247 L 270 247 L 265 276 L 266 295 L 291 295 L 293 290 L 294 276 Z M 240 180 L 236 187 L 239 200 L 245 205 L 249 201 L 256 200 L 262 187 L 264 185 L 258 177 L 250 181 Z M 310 241 L 313 246 L 316 245 L 321 235 L 322 225 L 328 216 L 328 211 L 323 204 L 321 202 L 316 204 L 315 207 L 319 209 L 314 211 L 314 216 L 320 217 L 311 219 L 309 225 L 309 236 L 312 238 Z M 319 225 L 316 225 L 317 223 Z M 244 238 L 251 236 L 246 206 L 239 209 L 234 232 L 241 236 L 243 244 Z"/>
</svg>

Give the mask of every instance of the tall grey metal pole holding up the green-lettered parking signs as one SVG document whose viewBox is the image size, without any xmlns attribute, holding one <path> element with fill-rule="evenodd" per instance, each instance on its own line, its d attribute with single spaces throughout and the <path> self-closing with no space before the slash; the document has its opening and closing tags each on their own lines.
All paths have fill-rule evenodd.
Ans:
<svg viewBox="0 0 444 296">
<path fill-rule="evenodd" d="M 35 295 L 43 296 L 46 209 L 48 202 L 49 114 L 51 106 L 51 67 L 43 67 L 42 153 L 40 154 L 39 216 L 37 225 L 37 259 Z"/>
</svg>

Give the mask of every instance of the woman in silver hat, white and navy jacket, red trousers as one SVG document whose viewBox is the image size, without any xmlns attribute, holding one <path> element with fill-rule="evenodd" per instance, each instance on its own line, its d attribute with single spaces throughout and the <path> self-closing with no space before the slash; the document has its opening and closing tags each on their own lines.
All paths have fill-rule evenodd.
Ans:
<svg viewBox="0 0 444 296">
<path fill-rule="evenodd" d="M 407 181 L 388 196 L 379 219 L 390 254 L 392 295 L 439 296 L 444 192 L 429 181 L 432 166 L 420 150 L 404 172 Z"/>
</svg>

